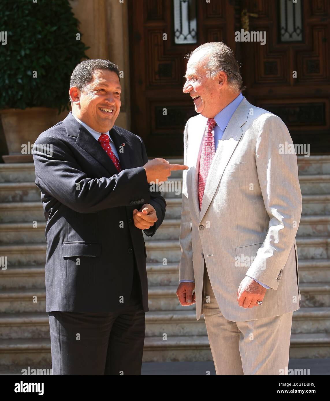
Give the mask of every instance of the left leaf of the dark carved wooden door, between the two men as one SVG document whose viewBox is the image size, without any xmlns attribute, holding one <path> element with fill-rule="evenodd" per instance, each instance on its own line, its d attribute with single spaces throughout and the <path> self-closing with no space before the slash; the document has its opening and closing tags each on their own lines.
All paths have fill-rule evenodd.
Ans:
<svg viewBox="0 0 330 401">
<path fill-rule="evenodd" d="M 234 46 L 234 2 L 131 0 L 131 129 L 149 156 L 182 156 L 183 129 L 195 115 L 182 92 L 187 53 L 200 44 Z"/>
</svg>

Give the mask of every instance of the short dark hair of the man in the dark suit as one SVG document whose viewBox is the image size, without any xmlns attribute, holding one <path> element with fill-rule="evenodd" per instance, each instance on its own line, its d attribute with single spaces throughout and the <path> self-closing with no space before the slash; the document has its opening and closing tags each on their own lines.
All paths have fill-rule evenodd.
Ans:
<svg viewBox="0 0 330 401">
<path fill-rule="evenodd" d="M 84 89 L 86 85 L 93 81 L 93 73 L 95 70 L 113 71 L 119 76 L 119 67 L 109 60 L 95 59 L 84 60 L 79 63 L 73 70 L 70 78 L 70 88 L 76 86 L 79 90 Z M 72 104 L 71 96 L 69 95 L 70 103 Z"/>
</svg>

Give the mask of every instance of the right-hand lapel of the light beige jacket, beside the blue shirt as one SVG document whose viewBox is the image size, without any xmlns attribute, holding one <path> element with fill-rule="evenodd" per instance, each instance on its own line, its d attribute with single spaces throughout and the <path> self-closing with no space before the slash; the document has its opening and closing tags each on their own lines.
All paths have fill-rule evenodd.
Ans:
<svg viewBox="0 0 330 401">
<path fill-rule="evenodd" d="M 228 126 L 224 130 L 224 134 L 222 135 L 216 153 L 214 154 L 208 178 L 206 180 L 202 208 L 200 211 L 200 221 L 202 221 L 206 211 L 208 210 L 216 189 L 218 188 L 224 169 L 242 137 L 243 131 L 241 127 L 247 121 L 250 107 L 250 103 L 244 97 L 232 115 Z"/>
</svg>

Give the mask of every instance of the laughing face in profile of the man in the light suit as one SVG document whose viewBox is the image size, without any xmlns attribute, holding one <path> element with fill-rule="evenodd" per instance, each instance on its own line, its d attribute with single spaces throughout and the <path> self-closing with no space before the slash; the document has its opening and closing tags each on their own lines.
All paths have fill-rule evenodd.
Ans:
<svg viewBox="0 0 330 401">
<path fill-rule="evenodd" d="M 227 82 L 226 73 L 220 71 L 212 77 L 206 69 L 208 54 L 197 51 L 188 60 L 183 93 L 194 100 L 196 113 L 212 118 L 222 109 L 222 89 Z"/>
</svg>

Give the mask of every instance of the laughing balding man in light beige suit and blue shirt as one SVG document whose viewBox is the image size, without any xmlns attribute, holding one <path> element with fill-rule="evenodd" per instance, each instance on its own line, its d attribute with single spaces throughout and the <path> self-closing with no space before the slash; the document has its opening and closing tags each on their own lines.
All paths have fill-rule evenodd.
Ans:
<svg viewBox="0 0 330 401">
<path fill-rule="evenodd" d="M 297 156 L 282 120 L 251 105 L 232 51 L 194 50 L 183 92 L 199 115 L 184 131 L 177 296 L 204 313 L 218 375 L 279 375 L 300 308 Z M 193 291 L 195 292 L 193 294 Z"/>
</svg>

